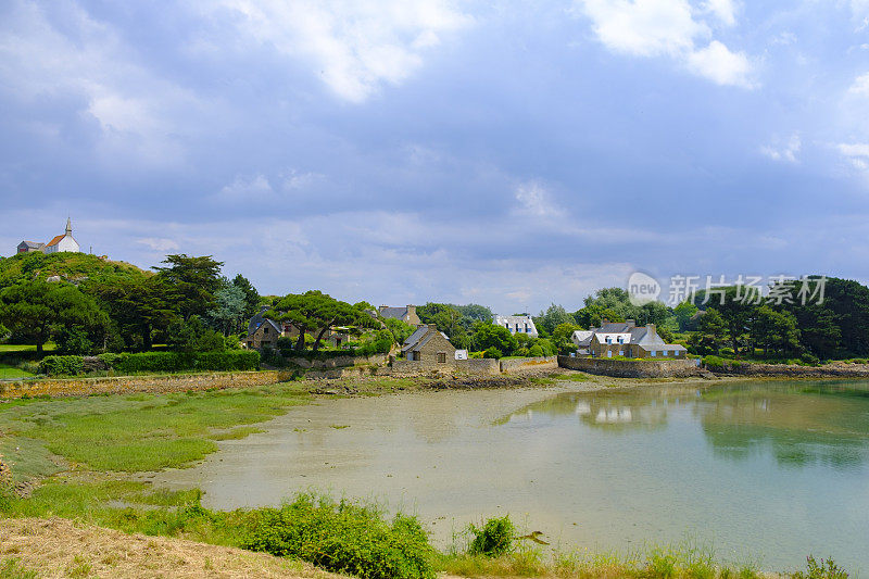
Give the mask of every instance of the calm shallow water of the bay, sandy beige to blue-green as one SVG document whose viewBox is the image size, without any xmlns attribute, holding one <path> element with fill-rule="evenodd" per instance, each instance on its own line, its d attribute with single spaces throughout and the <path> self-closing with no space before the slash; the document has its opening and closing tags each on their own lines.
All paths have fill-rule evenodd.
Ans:
<svg viewBox="0 0 869 579">
<path fill-rule="evenodd" d="M 216 508 L 310 488 L 373 498 L 440 545 L 509 513 L 553 544 L 690 540 L 767 569 L 813 553 L 869 571 L 869 382 L 325 400 L 265 428 L 155 481 Z"/>
</svg>

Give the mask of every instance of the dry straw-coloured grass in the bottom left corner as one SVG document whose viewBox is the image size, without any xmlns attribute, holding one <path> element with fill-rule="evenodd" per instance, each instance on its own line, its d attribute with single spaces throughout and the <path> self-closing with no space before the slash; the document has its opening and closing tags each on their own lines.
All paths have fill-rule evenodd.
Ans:
<svg viewBox="0 0 869 579">
<path fill-rule="evenodd" d="M 305 563 L 182 539 L 126 534 L 62 518 L 0 519 L 0 562 L 40 578 L 339 579 Z"/>
</svg>

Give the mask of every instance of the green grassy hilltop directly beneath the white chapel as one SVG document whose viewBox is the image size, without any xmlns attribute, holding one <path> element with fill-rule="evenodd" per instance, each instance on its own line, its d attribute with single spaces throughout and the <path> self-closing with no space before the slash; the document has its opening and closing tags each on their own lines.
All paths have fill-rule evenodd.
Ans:
<svg viewBox="0 0 869 579">
<path fill-rule="evenodd" d="M 18 281 L 60 276 L 75 284 L 103 282 L 153 275 L 126 262 L 103 260 L 88 253 L 22 253 L 0 257 L 0 288 Z"/>
</svg>

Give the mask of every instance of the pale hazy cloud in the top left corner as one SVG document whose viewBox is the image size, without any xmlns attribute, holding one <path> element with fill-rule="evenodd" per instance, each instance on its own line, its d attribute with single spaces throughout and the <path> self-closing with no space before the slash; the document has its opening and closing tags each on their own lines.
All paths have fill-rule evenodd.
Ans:
<svg viewBox="0 0 869 579">
<path fill-rule="evenodd" d="M 25 106 L 72 103 L 79 123 L 97 122 L 93 152 L 111 166 L 129 160 L 146 166 L 179 165 L 185 148 L 178 134 L 211 109 L 189 90 L 136 64 L 122 34 L 64 0 L 50 9 L 16 1 L 5 11 L 0 24 L 2 92 Z M 61 141 L 68 126 L 54 123 L 43 124 L 39 134 Z"/>
</svg>

